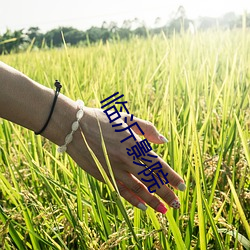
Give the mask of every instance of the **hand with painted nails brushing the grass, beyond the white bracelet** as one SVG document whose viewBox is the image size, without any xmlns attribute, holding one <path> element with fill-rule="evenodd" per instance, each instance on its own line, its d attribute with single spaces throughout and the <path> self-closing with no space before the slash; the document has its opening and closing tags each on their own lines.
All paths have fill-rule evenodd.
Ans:
<svg viewBox="0 0 250 250">
<path fill-rule="evenodd" d="M 133 164 L 132 159 L 127 155 L 126 148 L 131 148 L 134 146 L 135 141 L 130 138 L 123 143 L 120 142 L 124 138 L 128 137 L 130 133 L 128 131 L 115 133 L 115 128 L 113 128 L 109 123 L 107 116 L 101 109 L 85 107 L 84 112 L 85 114 L 80 122 L 81 130 L 87 140 L 88 145 L 97 156 L 107 175 L 110 177 L 101 145 L 101 136 L 97 119 L 99 120 L 109 160 L 121 196 L 123 196 L 132 205 L 142 210 L 146 210 L 145 204 L 148 204 L 156 211 L 165 213 L 167 209 L 164 203 L 162 203 L 159 198 L 148 191 L 147 187 L 150 185 L 150 183 L 140 180 L 141 176 L 138 175 L 138 173 L 142 171 L 144 167 Z M 126 124 L 124 123 L 124 118 L 129 118 L 130 115 L 126 113 L 120 114 L 122 117 L 114 121 L 112 124 L 123 123 L 121 126 L 125 128 Z M 164 139 L 162 139 L 163 137 L 159 135 L 152 123 L 136 117 L 134 117 L 133 122 L 138 122 L 140 128 L 145 133 L 144 137 L 147 138 L 148 141 L 157 144 L 164 143 Z M 130 121 L 127 122 L 128 125 L 131 123 L 132 122 Z M 137 133 L 135 134 L 135 137 L 137 141 L 140 142 L 141 138 L 138 136 L 138 134 L 140 135 L 141 133 L 139 129 L 134 129 L 134 132 Z M 80 130 L 74 134 L 74 140 L 71 144 L 69 144 L 67 152 L 82 169 L 87 171 L 96 179 L 104 181 L 82 138 Z M 150 154 L 157 156 L 157 154 L 152 150 L 150 151 Z M 160 161 L 163 167 L 163 172 L 168 173 L 167 179 L 170 185 L 178 190 L 184 191 L 186 186 L 183 179 L 166 162 L 164 162 L 162 158 L 158 156 L 157 158 L 153 158 L 152 163 L 149 164 L 145 161 L 144 163 L 148 167 L 149 165 L 152 165 L 158 161 Z M 176 209 L 180 207 L 178 197 L 166 185 L 161 186 L 161 188 L 156 188 L 156 194 L 169 206 Z"/>
</svg>

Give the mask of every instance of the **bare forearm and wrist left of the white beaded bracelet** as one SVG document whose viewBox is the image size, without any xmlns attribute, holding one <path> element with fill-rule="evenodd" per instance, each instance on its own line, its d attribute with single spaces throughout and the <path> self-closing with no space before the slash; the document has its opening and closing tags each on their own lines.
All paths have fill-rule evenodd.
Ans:
<svg viewBox="0 0 250 250">
<path fill-rule="evenodd" d="M 39 131 L 48 118 L 53 98 L 54 90 L 0 62 L 0 117 Z M 75 112 L 75 103 L 59 94 L 51 120 L 42 135 L 58 145 L 63 144 Z"/>
</svg>

